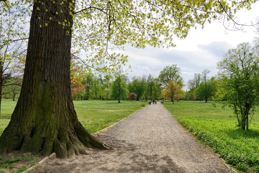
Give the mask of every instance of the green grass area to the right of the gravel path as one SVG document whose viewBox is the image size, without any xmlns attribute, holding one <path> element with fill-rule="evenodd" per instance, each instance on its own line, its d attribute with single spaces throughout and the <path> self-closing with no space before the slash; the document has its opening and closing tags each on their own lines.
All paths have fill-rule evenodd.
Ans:
<svg viewBox="0 0 259 173">
<path fill-rule="evenodd" d="M 233 110 L 200 101 L 164 102 L 164 107 L 228 164 L 241 171 L 259 172 L 259 112 L 248 131 L 237 127 Z"/>
</svg>

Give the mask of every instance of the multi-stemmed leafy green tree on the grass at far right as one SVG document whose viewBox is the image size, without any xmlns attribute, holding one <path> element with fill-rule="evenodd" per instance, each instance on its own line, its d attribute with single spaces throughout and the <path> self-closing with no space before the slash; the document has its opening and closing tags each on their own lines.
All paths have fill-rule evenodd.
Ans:
<svg viewBox="0 0 259 173">
<path fill-rule="evenodd" d="M 234 110 L 238 126 L 248 130 L 249 115 L 259 104 L 259 51 L 249 43 L 228 50 L 217 64 L 222 79 L 220 100 Z M 225 92 L 224 92 L 225 91 Z"/>
</svg>

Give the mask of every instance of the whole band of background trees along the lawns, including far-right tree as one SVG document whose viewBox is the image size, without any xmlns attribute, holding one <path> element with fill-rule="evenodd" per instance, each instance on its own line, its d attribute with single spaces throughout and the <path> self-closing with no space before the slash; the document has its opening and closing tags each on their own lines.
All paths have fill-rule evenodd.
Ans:
<svg viewBox="0 0 259 173">
<path fill-rule="evenodd" d="M 179 100 L 218 101 L 233 109 L 238 126 L 243 130 L 248 129 L 249 116 L 259 104 L 258 37 L 254 46 L 242 43 L 225 53 L 217 64 L 218 75 L 209 76 L 209 69 L 194 73 L 185 91 L 181 69 L 176 64 L 165 66 L 157 78 L 143 74 L 130 79 L 121 73 L 111 76 L 86 72 L 78 60 L 79 54 L 79 51 L 71 53 L 71 94 L 76 100 L 118 100 L 120 103 L 121 100 L 159 99 L 172 101 L 172 104 Z M 8 58 L 2 61 L 1 98 L 15 101 L 19 97 L 24 59 L 23 54 L 18 57 L 14 62 Z"/>
</svg>

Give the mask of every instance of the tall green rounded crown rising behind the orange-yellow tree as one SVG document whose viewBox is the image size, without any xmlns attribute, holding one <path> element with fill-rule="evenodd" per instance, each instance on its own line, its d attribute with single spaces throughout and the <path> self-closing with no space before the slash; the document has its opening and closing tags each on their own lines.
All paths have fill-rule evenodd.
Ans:
<svg viewBox="0 0 259 173">
<path fill-rule="evenodd" d="M 176 64 L 165 66 L 159 73 L 158 79 L 162 87 L 166 87 L 169 81 L 174 80 L 178 85 L 183 86 L 183 78 L 181 75 L 181 68 Z"/>
</svg>

